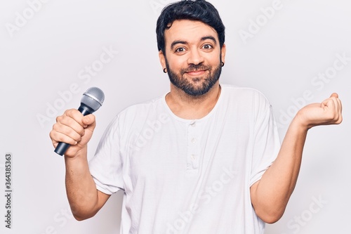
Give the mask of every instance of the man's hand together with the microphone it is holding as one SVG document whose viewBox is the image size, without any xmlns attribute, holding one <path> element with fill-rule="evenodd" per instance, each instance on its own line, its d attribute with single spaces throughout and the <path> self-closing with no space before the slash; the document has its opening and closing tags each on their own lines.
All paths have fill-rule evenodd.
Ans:
<svg viewBox="0 0 351 234">
<path fill-rule="evenodd" d="M 66 110 L 57 117 L 50 137 L 58 155 L 72 157 L 86 146 L 95 129 L 95 116 L 89 114 L 98 110 L 104 100 L 101 89 L 92 87 L 83 94 L 78 110 Z"/>
</svg>

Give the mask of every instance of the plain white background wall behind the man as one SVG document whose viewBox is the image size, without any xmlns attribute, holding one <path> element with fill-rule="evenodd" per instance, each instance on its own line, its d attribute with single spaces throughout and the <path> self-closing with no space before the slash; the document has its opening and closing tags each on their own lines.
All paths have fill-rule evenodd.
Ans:
<svg viewBox="0 0 351 234">
<path fill-rule="evenodd" d="M 169 1 L 37 2 L 41 3 L 37 11 L 28 1 L 1 1 L 0 6 L 3 191 L 5 154 L 13 154 L 12 229 L 5 228 L 6 202 L 1 195 L 0 233 L 119 233 L 121 193 L 112 195 L 92 219 L 78 222 L 69 215 L 64 160 L 53 152 L 48 134 L 55 117 L 48 113 L 61 115 L 65 109 L 78 108 L 86 89 L 100 87 L 106 100 L 95 113 L 98 126 L 89 145 L 92 157 L 114 115 L 166 93 L 169 82 L 159 64 L 155 26 Z M 333 92 L 343 101 L 342 124 L 310 130 L 296 190 L 283 218 L 267 225 L 266 233 L 349 233 L 350 2 L 277 1 L 279 10 L 270 19 L 261 8 L 271 7 L 274 1 L 211 2 L 226 26 L 221 82 L 262 91 L 273 105 L 281 138 L 288 126 L 286 117 L 294 115 L 296 105 L 321 102 Z M 27 20 L 19 20 L 18 15 Z M 261 26 L 253 33 L 256 20 Z M 244 31 L 251 37 L 242 39 L 239 32 Z M 88 79 L 86 67 L 101 65 L 104 48 L 118 54 Z M 348 60 L 336 62 L 335 70 L 337 54 Z M 315 78 L 325 72 L 331 78 Z M 69 96 L 66 91 L 72 85 L 79 91 Z M 67 94 L 66 100 L 60 92 Z M 50 112 L 48 106 L 54 105 Z"/>
</svg>

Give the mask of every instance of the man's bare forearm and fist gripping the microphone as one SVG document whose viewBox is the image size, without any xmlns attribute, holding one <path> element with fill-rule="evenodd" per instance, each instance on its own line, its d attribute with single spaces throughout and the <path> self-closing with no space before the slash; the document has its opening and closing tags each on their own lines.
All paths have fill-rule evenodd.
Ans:
<svg viewBox="0 0 351 234">
<path fill-rule="evenodd" d="M 57 117 L 50 132 L 54 147 L 58 142 L 71 145 L 65 152 L 65 181 L 69 205 L 77 220 L 94 216 L 110 197 L 96 189 L 88 168 L 87 144 L 94 129 L 94 115 L 83 116 L 72 109 Z"/>
</svg>

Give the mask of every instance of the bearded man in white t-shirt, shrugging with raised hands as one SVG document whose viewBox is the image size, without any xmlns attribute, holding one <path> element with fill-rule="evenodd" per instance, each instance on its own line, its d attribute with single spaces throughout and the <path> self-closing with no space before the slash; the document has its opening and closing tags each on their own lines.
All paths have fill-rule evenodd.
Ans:
<svg viewBox="0 0 351 234">
<path fill-rule="evenodd" d="M 95 117 L 67 110 L 51 131 L 65 152 L 76 219 L 124 190 L 121 233 L 263 233 L 296 185 L 307 130 L 342 121 L 333 93 L 302 108 L 279 143 L 262 93 L 219 83 L 225 27 L 206 1 L 166 6 L 157 20 L 159 59 L 171 90 L 114 118 L 88 163 Z"/>
</svg>

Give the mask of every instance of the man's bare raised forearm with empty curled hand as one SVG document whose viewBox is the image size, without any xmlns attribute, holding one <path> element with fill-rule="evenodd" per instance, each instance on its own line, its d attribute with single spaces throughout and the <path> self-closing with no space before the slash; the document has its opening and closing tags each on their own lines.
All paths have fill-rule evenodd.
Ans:
<svg viewBox="0 0 351 234">
<path fill-rule="evenodd" d="M 251 186 L 251 202 L 260 219 L 274 223 L 282 217 L 296 186 L 308 129 L 340 124 L 341 112 L 342 105 L 336 93 L 322 103 L 306 105 L 298 111 L 286 131 L 277 159 L 260 181 Z"/>
</svg>

